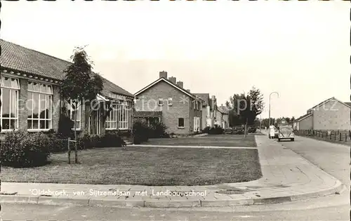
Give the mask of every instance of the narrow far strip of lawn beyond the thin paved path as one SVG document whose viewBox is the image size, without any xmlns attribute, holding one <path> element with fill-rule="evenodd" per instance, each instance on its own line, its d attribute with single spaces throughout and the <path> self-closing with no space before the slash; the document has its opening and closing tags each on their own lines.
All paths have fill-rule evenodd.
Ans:
<svg viewBox="0 0 351 221">
<path fill-rule="evenodd" d="M 157 138 L 149 139 L 143 145 L 256 147 L 253 135 L 207 135 L 197 138 Z"/>
</svg>

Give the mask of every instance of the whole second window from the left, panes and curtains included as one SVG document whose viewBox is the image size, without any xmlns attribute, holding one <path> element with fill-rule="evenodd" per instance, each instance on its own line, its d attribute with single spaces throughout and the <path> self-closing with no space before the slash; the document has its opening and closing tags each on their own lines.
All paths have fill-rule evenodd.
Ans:
<svg viewBox="0 0 351 221">
<path fill-rule="evenodd" d="M 28 129 L 52 128 L 53 89 L 50 85 L 28 81 Z"/>
</svg>

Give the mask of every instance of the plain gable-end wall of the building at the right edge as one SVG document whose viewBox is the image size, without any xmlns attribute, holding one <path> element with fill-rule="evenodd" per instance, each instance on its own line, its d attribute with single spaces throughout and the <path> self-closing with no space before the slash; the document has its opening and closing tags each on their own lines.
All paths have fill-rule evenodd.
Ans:
<svg viewBox="0 0 351 221">
<path fill-rule="evenodd" d="M 337 100 L 314 109 L 314 130 L 350 130 L 350 107 Z"/>
</svg>

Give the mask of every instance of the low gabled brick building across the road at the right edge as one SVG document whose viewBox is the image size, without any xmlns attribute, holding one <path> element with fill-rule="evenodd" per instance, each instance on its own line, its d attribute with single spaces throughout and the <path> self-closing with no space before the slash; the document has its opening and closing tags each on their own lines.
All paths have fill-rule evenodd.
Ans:
<svg viewBox="0 0 351 221">
<path fill-rule="evenodd" d="M 350 130 L 350 103 L 329 98 L 293 122 L 295 130 Z"/>
</svg>

